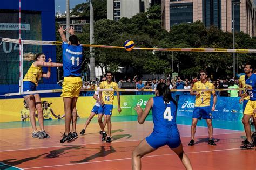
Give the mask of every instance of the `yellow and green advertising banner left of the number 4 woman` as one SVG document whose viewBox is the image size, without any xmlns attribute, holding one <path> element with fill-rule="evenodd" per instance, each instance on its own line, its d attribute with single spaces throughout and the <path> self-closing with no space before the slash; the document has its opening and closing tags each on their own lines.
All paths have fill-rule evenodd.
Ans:
<svg viewBox="0 0 256 170">
<path fill-rule="evenodd" d="M 147 100 L 154 95 L 127 95 L 121 97 L 122 112 L 117 112 L 117 97 L 114 98 L 112 116 L 137 115 L 133 109 L 136 105 L 145 108 Z M 62 97 L 41 98 L 42 102 L 51 103 L 50 108 L 56 115 L 64 114 L 64 104 Z M 77 111 L 80 117 L 89 117 L 96 100 L 93 97 L 79 97 L 77 101 Z M 0 100 L 0 122 L 21 121 L 21 111 L 24 108 L 23 99 Z M 57 119 L 51 115 L 53 119 Z"/>
</svg>

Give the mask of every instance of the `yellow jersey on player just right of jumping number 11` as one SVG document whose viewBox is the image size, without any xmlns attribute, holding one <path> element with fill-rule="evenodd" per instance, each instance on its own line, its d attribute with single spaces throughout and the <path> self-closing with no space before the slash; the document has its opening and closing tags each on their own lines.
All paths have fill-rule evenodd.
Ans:
<svg viewBox="0 0 256 170">
<path fill-rule="evenodd" d="M 111 82 L 110 84 L 106 81 L 103 81 L 99 85 L 100 89 L 118 89 L 116 82 Z M 105 104 L 114 103 L 114 91 L 102 91 L 102 100 Z"/>
</svg>

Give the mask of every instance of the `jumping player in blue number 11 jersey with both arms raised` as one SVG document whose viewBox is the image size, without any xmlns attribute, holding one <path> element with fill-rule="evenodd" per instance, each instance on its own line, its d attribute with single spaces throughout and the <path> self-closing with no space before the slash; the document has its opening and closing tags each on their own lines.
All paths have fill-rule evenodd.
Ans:
<svg viewBox="0 0 256 170">
<path fill-rule="evenodd" d="M 74 34 L 74 29 L 70 27 L 69 42 L 67 42 L 63 26 L 59 26 L 58 32 L 62 37 L 63 49 L 63 76 L 64 82 L 62 86 L 62 95 L 65 111 L 65 133 L 60 143 L 65 141 L 71 142 L 78 138 L 76 133 L 77 111 L 76 103 L 82 87 L 81 65 L 83 61 L 83 47 L 79 44 L 77 36 Z M 70 123 L 72 120 L 72 130 L 70 131 Z"/>
</svg>

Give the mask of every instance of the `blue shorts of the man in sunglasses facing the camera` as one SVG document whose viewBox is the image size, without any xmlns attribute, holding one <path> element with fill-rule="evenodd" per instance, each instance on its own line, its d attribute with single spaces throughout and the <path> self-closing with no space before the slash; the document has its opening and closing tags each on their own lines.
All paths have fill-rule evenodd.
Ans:
<svg viewBox="0 0 256 170">
<path fill-rule="evenodd" d="M 212 119 L 212 110 L 211 106 L 207 107 L 194 107 L 192 118 L 203 119 Z"/>
</svg>

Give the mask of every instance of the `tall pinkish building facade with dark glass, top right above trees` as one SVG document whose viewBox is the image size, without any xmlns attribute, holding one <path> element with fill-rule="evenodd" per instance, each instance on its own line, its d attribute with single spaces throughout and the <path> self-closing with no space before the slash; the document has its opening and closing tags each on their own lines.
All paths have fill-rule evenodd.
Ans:
<svg viewBox="0 0 256 170">
<path fill-rule="evenodd" d="M 167 31 L 175 24 L 201 20 L 206 27 L 232 32 L 234 20 L 235 31 L 256 36 L 254 0 L 163 0 L 161 9 L 162 26 Z"/>
</svg>

